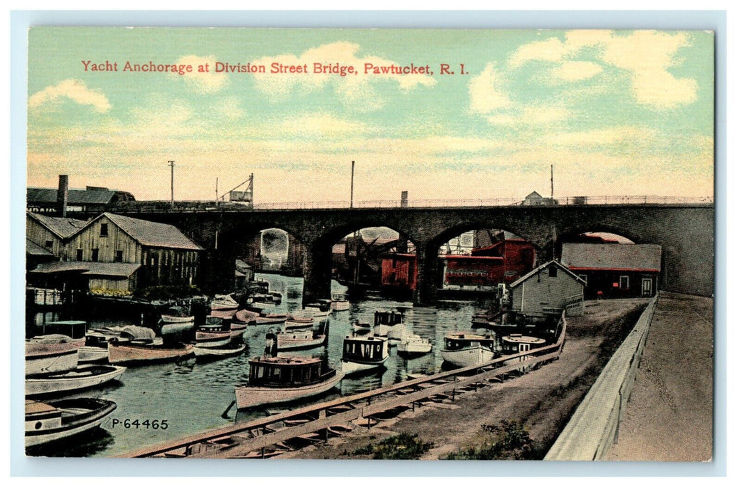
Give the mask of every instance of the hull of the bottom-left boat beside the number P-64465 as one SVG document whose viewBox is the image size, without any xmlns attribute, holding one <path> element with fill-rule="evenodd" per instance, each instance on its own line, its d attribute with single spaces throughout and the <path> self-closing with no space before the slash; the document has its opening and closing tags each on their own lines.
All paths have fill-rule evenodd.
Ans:
<svg viewBox="0 0 742 487">
<path fill-rule="evenodd" d="M 51 405 L 64 410 L 63 406 L 70 408 L 73 416 L 64 423 L 48 425 L 37 428 L 39 424 L 43 425 L 42 420 L 38 420 L 33 414 L 27 415 L 25 427 L 25 444 L 26 446 L 43 445 L 56 440 L 62 440 L 80 434 L 89 429 L 96 428 L 108 417 L 109 414 L 116 410 L 116 402 L 101 399 L 78 399 L 62 400 L 52 402 Z M 88 412 L 85 412 L 85 411 Z"/>
</svg>

